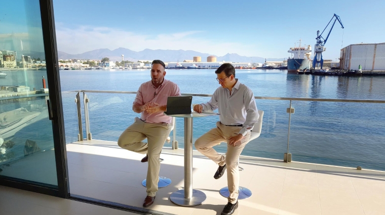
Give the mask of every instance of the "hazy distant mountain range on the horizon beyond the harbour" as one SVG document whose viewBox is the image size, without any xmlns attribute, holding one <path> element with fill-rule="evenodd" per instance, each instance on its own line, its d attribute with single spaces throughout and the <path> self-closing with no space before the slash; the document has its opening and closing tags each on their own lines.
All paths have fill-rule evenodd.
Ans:
<svg viewBox="0 0 385 215">
<path fill-rule="evenodd" d="M 58 51 L 59 59 L 90 59 L 90 60 L 101 60 L 104 57 L 109 58 L 111 61 L 122 61 L 122 55 L 124 55 L 124 60 L 129 60 L 137 62 L 138 60 L 155 60 L 160 59 L 164 62 L 183 62 L 184 60 L 193 60 L 194 56 L 202 57 L 202 62 L 206 61 L 208 56 L 211 54 L 200 53 L 191 50 L 151 50 L 145 49 L 140 52 L 135 52 L 125 48 L 119 48 L 115 50 L 109 49 L 97 49 L 82 54 L 67 54 L 65 52 Z M 215 55 L 213 55 L 215 56 Z M 257 62 L 263 63 L 265 58 L 262 57 L 247 57 L 240 56 L 236 53 L 230 54 L 227 53 L 224 56 L 215 56 L 217 61 L 227 61 L 227 62 Z M 282 61 L 283 58 L 267 58 L 266 61 Z"/>
</svg>

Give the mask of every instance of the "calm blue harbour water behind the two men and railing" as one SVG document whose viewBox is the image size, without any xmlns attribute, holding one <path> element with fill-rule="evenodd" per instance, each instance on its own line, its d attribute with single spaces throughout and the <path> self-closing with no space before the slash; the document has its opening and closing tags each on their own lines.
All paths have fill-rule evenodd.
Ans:
<svg viewBox="0 0 385 215">
<path fill-rule="evenodd" d="M 25 85 L 24 77 L 30 77 L 28 86 L 40 89 L 45 71 L 7 73 L 7 78 L 0 79 L 0 85 Z M 382 76 L 332 77 L 291 75 L 282 70 L 237 70 L 236 77 L 251 88 L 254 96 L 385 99 L 385 77 Z M 150 72 L 61 70 L 60 78 L 66 141 L 69 143 L 77 140 L 79 133 L 75 93 L 70 91 L 137 91 L 142 82 L 150 79 Z M 166 79 L 179 85 L 181 93 L 212 94 L 219 87 L 215 78 L 214 70 L 168 70 L 166 74 Z M 132 111 L 134 94 L 88 93 L 87 96 L 93 139 L 117 141 L 134 117 L 139 116 Z M 209 99 L 194 97 L 193 103 Z M 288 143 L 286 108 L 289 101 L 256 100 L 256 104 L 264 111 L 262 133 L 247 144 L 242 154 L 283 159 Z M 385 170 L 382 156 L 385 153 L 385 105 L 293 101 L 292 106 L 295 113 L 291 117 L 289 151 L 293 160 Z M 194 140 L 214 127 L 217 120 L 217 116 L 194 119 Z M 41 120 L 31 126 L 47 126 L 47 123 L 48 120 Z M 24 127 L 15 138 L 25 138 L 31 126 Z M 83 128 L 85 130 L 85 125 Z M 182 119 L 177 119 L 176 136 L 179 147 L 183 148 Z M 215 148 L 225 152 L 226 145 Z"/>
</svg>

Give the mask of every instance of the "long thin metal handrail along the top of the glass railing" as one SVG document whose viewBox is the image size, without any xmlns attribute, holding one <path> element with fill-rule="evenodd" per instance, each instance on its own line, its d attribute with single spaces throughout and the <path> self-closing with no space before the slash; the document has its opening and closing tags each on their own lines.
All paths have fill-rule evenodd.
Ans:
<svg viewBox="0 0 385 215">
<path fill-rule="evenodd" d="M 135 91 L 94 91 L 94 90 L 79 90 L 70 92 L 84 92 L 84 93 L 116 93 L 116 94 L 136 94 Z M 211 97 L 212 94 L 186 94 L 182 93 L 182 96 L 201 96 Z M 309 102 L 358 102 L 358 103 L 385 103 L 385 100 L 372 100 L 372 99 L 322 99 L 322 98 L 291 98 L 291 97 L 265 97 L 255 96 L 255 99 L 265 100 L 286 100 L 286 101 L 309 101 Z"/>
</svg>

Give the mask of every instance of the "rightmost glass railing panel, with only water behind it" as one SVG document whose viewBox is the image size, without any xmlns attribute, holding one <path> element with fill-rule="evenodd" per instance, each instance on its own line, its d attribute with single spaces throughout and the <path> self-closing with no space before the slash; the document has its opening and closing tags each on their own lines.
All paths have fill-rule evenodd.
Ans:
<svg viewBox="0 0 385 215">
<path fill-rule="evenodd" d="M 383 104 L 293 101 L 292 106 L 292 160 L 385 170 Z"/>
</svg>

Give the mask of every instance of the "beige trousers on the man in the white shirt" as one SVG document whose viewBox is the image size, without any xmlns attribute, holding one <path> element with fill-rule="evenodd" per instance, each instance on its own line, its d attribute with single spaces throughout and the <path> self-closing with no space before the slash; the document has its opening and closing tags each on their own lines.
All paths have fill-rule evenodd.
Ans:
<svg viewBox="0 0 385 215">
<path fill-rule="evenodd" d="M 218 165 L 223 166 L 226 164 L 227 187 L 230 192 L 227 199 L 228 202 L 234 204 L 237 202 L 239 195 L 239 155 L 249 142 L 250 132 L 240 141 L 241 144 L 239 146 L 233 146 L 229 145 L 229 139 L 237 136 L 242 127 L 226 126 L 220 122 L 217 122 L 216 125 L 216 128 L 213 128 L 195 141 L 195 148 Z M 221 142 L 227 143 L 226 157 L 213 149 L 213 146 Z"/>
</svg>

